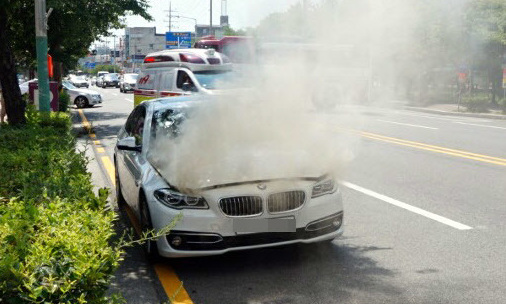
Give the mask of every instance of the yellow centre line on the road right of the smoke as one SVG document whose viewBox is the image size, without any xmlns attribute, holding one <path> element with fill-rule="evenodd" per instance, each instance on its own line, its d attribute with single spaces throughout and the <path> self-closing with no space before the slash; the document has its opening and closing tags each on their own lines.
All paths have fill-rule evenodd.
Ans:
<svg viewBox="0 0 506 304">
<path fill-rule="evenodd" d="M 471 152 L 456 150 L 456 149 L 449 149 L 449 148 L 424 144 L 424 143 L 415 142 L 415 141 L 409 141 L 409 140 L 404 140 L 404 139 L 399 139 L 399 138 L 394 138 L 394 137 L 388 137 L 388 136 L 379 135 L 379 134 L 370 133 L 370 132 L 363 132 L 363 131 L 354 131 L 354 132 L 360 134 L 363 137 L 374 139 L 374 140 L 384 141 L 384 142 L 393 143 L 393 144 L 397 144 L 397 145 L 417 148 L 417 149 L 421 149 L 421 150 L 426 150 L 426 151 L 431 151 L 431 152 L 436 152 L 436 153 L 441 153 L 441 154 L 446 154 L 446 155 L 451 155 L 451 156 L 456 156 L 456 157 L 461 157 L 461 158 L 467 158 L 467 159 L 485 162 L 485 163 L 494 164 L 494 165 L 499 165 L 499 166 L 506 166 L 506 159 L 504 159 L 504 158 L 493 157 L 493 156 L 477 154 L 477 153 L 471 153 Z"/>
</svg>

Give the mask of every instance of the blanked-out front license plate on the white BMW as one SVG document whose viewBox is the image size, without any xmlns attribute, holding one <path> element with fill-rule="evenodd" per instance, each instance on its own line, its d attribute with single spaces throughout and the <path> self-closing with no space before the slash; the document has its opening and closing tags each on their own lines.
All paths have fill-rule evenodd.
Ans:
<svg viewBox="0 0 506 304">
<path fill-rule="evenodd" d="M 234 232 L 258 233 L 258 232 L 295 232 L 295 218 L 276 219 L 234 219 Z"/>
</svg>

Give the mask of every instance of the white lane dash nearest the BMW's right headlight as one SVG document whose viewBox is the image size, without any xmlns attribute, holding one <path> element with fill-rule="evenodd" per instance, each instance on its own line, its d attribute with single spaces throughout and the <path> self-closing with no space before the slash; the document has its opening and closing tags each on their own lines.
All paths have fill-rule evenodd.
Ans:
<svg viewBox="0 0 506 304">
<path fill-rule="evenodd" d="M 450 220 L 450 219 L 448 219 L 446 217 L 443 217 L 443 216 L 437 215 L 435 213 L 423 210 L 421 208 L 418 208 L 418 207 L 415 207 L 415 206 L 411 206 L 409 204 L 403 203 L 401 201 L 398 201 L 398 200 L 393 199 L 391 197 L 388 197 L 386 195 L 379 194 L 379 193 L 374 192 L 372 190 L 362 188 L 362 187 L 357 186 L 355 184 L 352 184 L 352 183 L 349 183 L 349 182 L 342 182 L 342 185 L 345 186 L 345 187 L 348 187 L 350 189 L 353 189 L 355 191 L 361 192 L 363 194 L 372 196 L 372 197 L 374 197 L 376 199 L 379 199 L 381 201 L 384 201 L 385 203 L 389 203 L 391 205 L 394 205 L 394 206 L 406 209 L 408 211 L 414 212 L 414 213 L 419 214 L 421 216 L 425 216 L 426 218 L 429 218 L 431 220 L 434 220 L 434 221 L 440 222 L 442 224 L 448 225 L 448 226 L 453 227 L 455 229 L 458 229 L 458 230 L 473 229 L 472 227 L 469 227 L 467 225 L 461 224 L 459 222 L 455 222 L 455 221 Z"/>
</svg>

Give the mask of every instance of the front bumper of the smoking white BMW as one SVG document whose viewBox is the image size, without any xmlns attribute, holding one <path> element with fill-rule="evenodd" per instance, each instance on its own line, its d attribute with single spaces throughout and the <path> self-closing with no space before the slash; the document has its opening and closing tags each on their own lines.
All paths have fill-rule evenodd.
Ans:
<svg viewBox="0 0 506 304">
<path fill-rule="evenodd" d="M 180 212 L 183 218 L 165 237 L 157 240 L 160 255 L 169 258 L 220 255 L 231 251 L 265 248 L 296 243 L 331 240 L 343 233 L 343 206 L 340 191 L 308 200 L 300 209 L 271 215 L 264 212 L 257 218 L 296 220 L 295 232 L 236 233 L 233 217 L 223 216 L 216 206 L 207 210 L 174 210 L 149 197 L 151 217 L 156 230 L 170 224 Z M 153 211 L 155 210 L 156 211 Z M 337 221 L 336 221 L 337 220 Z M 174 238 L 179 237 L 174 243 Z"/>
</svg>

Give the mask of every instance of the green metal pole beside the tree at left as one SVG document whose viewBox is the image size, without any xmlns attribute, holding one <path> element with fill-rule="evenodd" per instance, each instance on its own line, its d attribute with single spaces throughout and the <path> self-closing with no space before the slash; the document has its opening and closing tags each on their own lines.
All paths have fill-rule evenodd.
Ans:
<svg viewBox="0 0 506 304">
<path fill-rule="evenodd" d="M 35 0 L 35 45 L 37 49 L 37 77 L 39 110 L 49 112 L 49 79 L 47 72 L 46 0 Z"/>
</svg>

